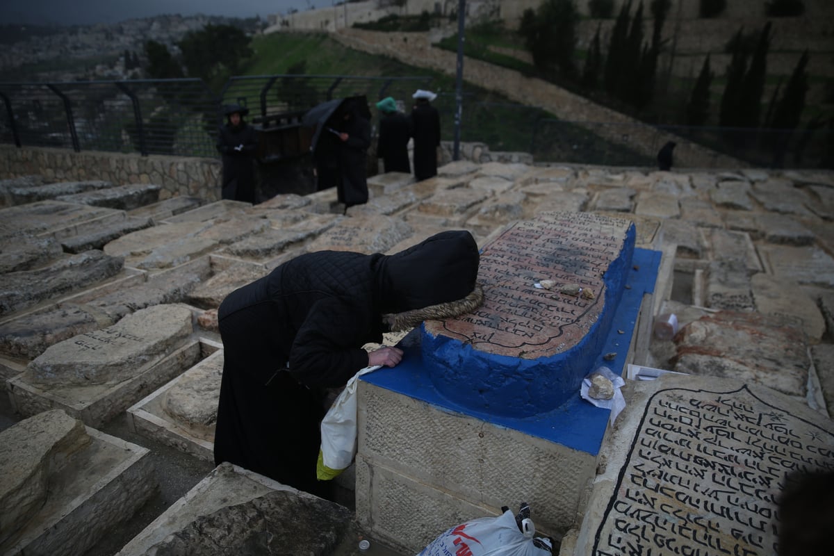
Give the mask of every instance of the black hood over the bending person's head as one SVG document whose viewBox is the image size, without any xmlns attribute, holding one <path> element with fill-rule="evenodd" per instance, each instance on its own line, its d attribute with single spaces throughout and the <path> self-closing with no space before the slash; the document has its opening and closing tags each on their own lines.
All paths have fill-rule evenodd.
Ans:
<svg viewBox="0 0 834 556">
<path fill-rule="evenodd" d="M 465 298 L 475 289 L 480 254 L 467 231 L 437 233 L 379 261 L 383 313 L 402 313 Z"/>
</svg>

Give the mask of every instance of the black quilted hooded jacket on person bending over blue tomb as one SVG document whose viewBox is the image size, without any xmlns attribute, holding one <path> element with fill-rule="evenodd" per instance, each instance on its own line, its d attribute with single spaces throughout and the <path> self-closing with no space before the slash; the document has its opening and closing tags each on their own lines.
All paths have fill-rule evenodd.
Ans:
<svg viewBox="0 0 834 556">
<path fill-rule="evenodd" d="M 269 377 L 289 363 L 308 386 L 344 385 L 382 341 L 384 313 L 455 301 L 475 287 L 478 248 L 468 232 L 444 232 L 391 256 L 307 253 L 239 288 L 219 308 L 226 358 Z"/>
</svg>

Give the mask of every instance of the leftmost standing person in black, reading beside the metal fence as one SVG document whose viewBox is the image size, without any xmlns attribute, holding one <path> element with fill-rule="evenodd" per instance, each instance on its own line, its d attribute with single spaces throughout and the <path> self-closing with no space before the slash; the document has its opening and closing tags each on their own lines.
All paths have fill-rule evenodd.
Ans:
<svg viewBox="0 0 834 556">
<path fill-rule="evenodd" d="M 224 107 L 227 121 L 217 134 L 217 150 L 223 155 L 222 198 L 254 204 L 254 153 L 258 134 L 244 122 L 248 113 L 249 108 L 239 104 Z"/>
</svg>

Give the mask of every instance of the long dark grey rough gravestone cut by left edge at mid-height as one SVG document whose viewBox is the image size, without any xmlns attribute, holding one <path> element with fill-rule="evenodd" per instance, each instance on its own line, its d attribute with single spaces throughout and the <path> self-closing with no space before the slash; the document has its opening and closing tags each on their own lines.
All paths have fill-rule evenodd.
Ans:
<svg viewBox="0 0 834 556">
<path fill-rule="evenodd" d="M 48 267 L 3 274 L 0 316 L 112 278 L 122 270 L 123 264 L 123 258 L 93 249 L 59 258 Z"/>
</svg>

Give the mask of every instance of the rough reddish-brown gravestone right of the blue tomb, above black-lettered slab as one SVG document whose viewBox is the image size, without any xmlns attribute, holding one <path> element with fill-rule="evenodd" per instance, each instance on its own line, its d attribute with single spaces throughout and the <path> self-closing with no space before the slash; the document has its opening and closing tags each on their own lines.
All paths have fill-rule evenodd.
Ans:
<svg viewBox="0 0 834 556">
<path fill-rule="evenodd" d="M 673 371 L 735 378 L 806 397 L 811 360 L 805 333 L 796 323 L 761 313 L 719 311 L 687 324 L 674 341 Z"/>
</svg>

